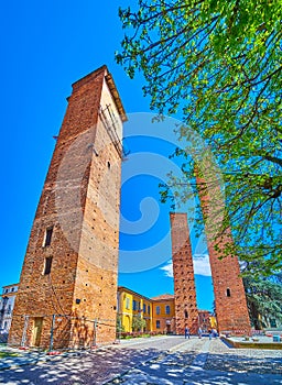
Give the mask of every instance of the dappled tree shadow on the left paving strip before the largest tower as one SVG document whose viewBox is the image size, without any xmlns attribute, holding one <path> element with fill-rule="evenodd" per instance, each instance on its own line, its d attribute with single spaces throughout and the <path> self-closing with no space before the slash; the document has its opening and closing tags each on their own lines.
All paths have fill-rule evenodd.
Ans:
<svg viewBox="0 0 282 385">
<path fill-rule="evenodd" d="M 160 354 L 154 349 L 105 349 L 0 372 L 0 384 L 104 384 Z"/>
</svg>

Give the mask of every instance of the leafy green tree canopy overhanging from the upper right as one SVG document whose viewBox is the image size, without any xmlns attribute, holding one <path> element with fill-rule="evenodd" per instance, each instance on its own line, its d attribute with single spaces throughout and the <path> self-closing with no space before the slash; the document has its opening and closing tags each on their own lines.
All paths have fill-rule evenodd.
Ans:
<svg viewBox="0 0 282 385">
<path fill-rule="evenodd" d="M 182 119 L 180 138 L 193 142 L 196 132 L 204 139 L 225 184 L 220 232 L 231 227 L 235 240 L 224 252 L 260 261 L 254 265 L 265 275 L 282 263 L 281 6 L 139 0 L 137 9 L 119 11 L 127 34 L 116 54 L 130 77 L 143 74 L 153 110 Z M 198 158 L 203 153 L 198 148 Z M 164 200 L 172 188 L 189 198 L 183 186 L 195 182 L 195 157 L 187 148 L 180 154 L 184 179 L 171 178 Z"/>
</svg>

